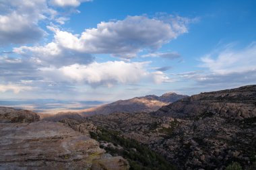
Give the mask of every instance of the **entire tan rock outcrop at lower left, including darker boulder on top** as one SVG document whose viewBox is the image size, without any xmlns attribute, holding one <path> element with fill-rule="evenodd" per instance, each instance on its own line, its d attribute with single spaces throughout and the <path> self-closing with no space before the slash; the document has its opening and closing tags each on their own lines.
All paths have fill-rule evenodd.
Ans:
<svg viewBox="0 0 256 170">
<path fill-rule="evenodd" d="M 129 169 L 106 155 L 90 134 L 62 123 L 38 121 L 33 112 L 0 108 L 0 169 Z"/>
</svg>

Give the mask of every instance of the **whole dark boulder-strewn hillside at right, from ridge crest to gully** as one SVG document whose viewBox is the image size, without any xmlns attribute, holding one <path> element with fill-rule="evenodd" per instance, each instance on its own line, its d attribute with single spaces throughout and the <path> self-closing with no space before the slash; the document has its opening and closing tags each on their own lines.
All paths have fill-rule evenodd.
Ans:
<svg viewBox="0 0 256 170">
<path fill-rule="evenodd" d="M 179 169 L 256 169 L 256 85 L 193 95 L 151 114 L 86 118 L 164 156 Z M 97 132 L 97 131 L 96 131 Z"/>
</svg>

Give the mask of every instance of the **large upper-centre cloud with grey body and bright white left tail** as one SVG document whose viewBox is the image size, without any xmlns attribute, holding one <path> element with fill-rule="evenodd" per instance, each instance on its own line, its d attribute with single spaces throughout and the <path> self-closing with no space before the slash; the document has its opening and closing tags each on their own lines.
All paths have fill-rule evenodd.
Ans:
<svg viewBox="0 0 256 170">
<path fill-rule="evenodd" d="M 120 58 L 133 58 L 141 50 L 156 50 L 180 34 L 187 32 L 183 17 L 172 17 L 172 22 L 150 19 L 146 16 L 128 16 L 115 22 L 101 22 L 97 28 L 86 29 L 81 35 L 71 34 L 57 28 L 53 42 L 46 46 L 22 46 L 14 52 L 42 52 L 60 54 L 62 49 L 89 54 L 113 54 Z M 174 22 L 174 20 L 181 20 Z M 174 25 L 172 25 L 174 24 Z M 178 27 L 177 24 L 183 26 Z M 186 28 L 186 29 L 185 29 Z M 179 57 L 179 54 L 162 54 L 163 57 Z"/>
</svg>

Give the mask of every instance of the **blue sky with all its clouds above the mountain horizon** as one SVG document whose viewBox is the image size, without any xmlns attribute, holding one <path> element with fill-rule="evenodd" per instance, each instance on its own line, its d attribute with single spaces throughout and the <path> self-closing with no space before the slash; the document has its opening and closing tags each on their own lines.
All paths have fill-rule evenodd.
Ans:
<svg viewBox="0 0 256 170">
<path fill-rule="evenodd" d="M 255 7 L 0 0 L 0 99 L 115 101 L 255 84 Z"/>
</svg>

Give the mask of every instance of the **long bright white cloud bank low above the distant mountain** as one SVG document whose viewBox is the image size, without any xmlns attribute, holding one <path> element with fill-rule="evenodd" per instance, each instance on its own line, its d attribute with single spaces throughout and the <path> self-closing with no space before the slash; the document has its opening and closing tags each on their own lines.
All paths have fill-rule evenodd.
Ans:
<svg viewBox="0 0 256 170">
<path fill-rule="evenodd" d="M 158 71 L 150 73 L 145 67 L 148 62 L 92 62 L 90 65 L 70 65 L 56 69 L 54 67 L 42 68 L 42 74 L 46 79 L 55 81 L 69 81 L 75 83 L 87 83 L 94 87 L 115 84 L 138 83 L 141 79 L 151 79 L 155 83 L 162 83 L 168 77 Z"/>
</svg>

